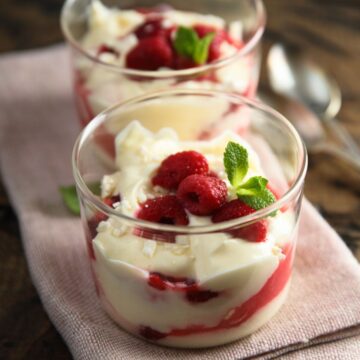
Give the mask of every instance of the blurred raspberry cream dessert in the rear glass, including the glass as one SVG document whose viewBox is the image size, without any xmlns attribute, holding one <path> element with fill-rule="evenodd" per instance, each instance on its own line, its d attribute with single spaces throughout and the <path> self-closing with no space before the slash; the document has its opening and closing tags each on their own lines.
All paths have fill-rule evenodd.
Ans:
<svg viewBox="0 0 360 360">
<path fill-rule="evenodd" d="M 67 0 L 62 11 L 83 126 L 116 102 L 162 89 L 254 96 L 265 26 L 261 0 L 115 3 Z"/>
</svg>

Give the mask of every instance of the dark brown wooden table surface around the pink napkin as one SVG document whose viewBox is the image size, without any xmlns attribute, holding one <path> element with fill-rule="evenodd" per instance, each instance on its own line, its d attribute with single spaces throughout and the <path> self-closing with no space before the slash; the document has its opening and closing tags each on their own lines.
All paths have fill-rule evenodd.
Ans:
<svg viewBox="0 0 360 360">
<path fill-rule="evenodd" d="M 62 41 L 61 0 L 1 0 L 0 51 Z M 360 143 L 360 0 L 269 0 L 265 50 L 300 45 L 339 82 L 339 119 Z M 360 174 L 326 155 L 311 155 L 306 196 L 360 260 Z M 31 283 L 16 214 L 0 184 L 0 359 L 70 359 Z M 316 244 L 315 244 L 316 246 Z"/>
</svg>

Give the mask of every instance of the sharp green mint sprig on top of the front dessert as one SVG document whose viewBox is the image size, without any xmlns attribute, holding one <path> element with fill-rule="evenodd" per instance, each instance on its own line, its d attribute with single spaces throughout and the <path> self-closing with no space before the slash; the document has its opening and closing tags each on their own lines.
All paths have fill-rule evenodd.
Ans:
<svg viewBox="0 0 360 360">
<path fill-rule="evenodd" d="M 253 176 L 243 181 L 249 170 L 249 155 L 243 146 L 232 141 L 227 144 L 224 167 L 237 197 L 247 205 L 260 210 L 275 202 L 274 194 L 266 187 L 268 180 L 264 177 Z"/>
</svg>

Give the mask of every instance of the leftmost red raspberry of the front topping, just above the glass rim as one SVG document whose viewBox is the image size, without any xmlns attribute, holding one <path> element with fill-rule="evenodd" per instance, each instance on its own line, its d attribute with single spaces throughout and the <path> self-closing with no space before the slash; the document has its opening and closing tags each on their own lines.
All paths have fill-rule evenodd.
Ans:
<svg viewBox="0 0 360 360">
<path fill-rule="evenodd" d="M 159 224 L 188 225 L 188 216 L 175 195 L 146 200 L 141 204 L 137 217 Z"/>
</svg>

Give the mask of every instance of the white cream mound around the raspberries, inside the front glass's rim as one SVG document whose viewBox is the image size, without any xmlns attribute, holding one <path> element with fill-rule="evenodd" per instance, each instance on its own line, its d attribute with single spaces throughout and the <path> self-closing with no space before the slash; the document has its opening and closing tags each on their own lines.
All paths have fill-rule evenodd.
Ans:
<svg viewBox="0 0 360 360">
<path fill-rule="evenodd" d="M 112 193 L 121 194 L 122 201 L 117 210 L 134 217 L 139 210 L 139 204 L 148 198 L 163 194 L 161 188 L 153 188 L 151 184 L 151 178 L 160 163 L 171 154 L 196 150 L 206 157 L 210 169 L 225 181 L 230 198 L 235 198 L 235 194 L 231 194 L 232 187 L 223 164 L 224 149 L 229 141 L 237 142 L 248 149 L 250 166 L 246 179 L 262 173 L 256 153 L 245 140 L 231 131 L 224 131 L 220 136 L 208 141 L 180 141 L 177 133 L 170 128 L 152 133 L 138 121 L 133 121 L 116 137 L 115 164 L 122 170 L 104 178 L 102 196 L 110 196 Z M 211 222 L 209 218 L 207 221 Z"/>
</svg>

